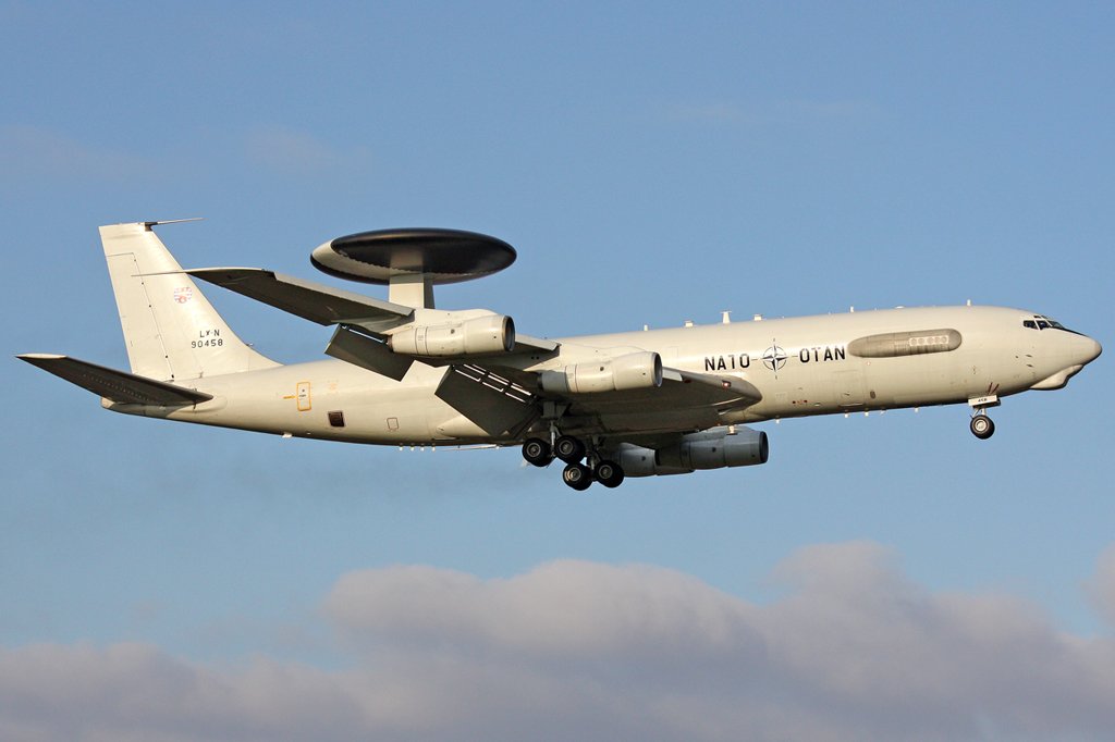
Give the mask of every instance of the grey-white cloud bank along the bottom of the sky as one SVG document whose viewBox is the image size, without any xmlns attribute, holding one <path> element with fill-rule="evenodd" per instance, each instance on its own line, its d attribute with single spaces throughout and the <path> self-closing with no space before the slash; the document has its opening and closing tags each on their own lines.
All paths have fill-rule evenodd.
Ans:
<svg viewBox="0 0 1115 742">
<path fill-rule="evenodd" d="M 1111 739 L 1111 637 L 1010 596 L 930 593 L 870 543 L 808 547 L 776 578 L 786 596 L 759 606 L 642 565 L 356 572 L 322 611 L 346 670 L 7 650 L 0 738 Z M 1106 562 L 1096 583 L 1115 590 Z"/>
</svg>

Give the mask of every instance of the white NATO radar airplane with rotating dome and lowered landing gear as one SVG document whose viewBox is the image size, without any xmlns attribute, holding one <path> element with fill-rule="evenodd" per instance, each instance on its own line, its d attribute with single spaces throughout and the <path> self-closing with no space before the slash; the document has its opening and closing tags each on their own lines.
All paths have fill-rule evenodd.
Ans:
<svg viewBox="0 0 1115 742">
<path fill-rule="evenodd" d="M 188 219 L 177 219 L 188 221 Z M 184 271 L 155 234 L 172 222 L 100 227 L 130 372 L 67 355 L 17 358 L 83 387 L 114 412 L 394 446 L 522 447 L 592 482 L 765 463 L 748 424 L 815 414 L 967 404 L 1054 390 L 1102 352 L 1028 310 L 899 307 L 553 340 L 484 309 L 439 310 L 434 286 L 491 275 L 515 250 L 443 228 L 362 232 L 319 245 L 336 277 L 388 300 L 262 269 Z M 197 287 L 215 284 L 333 333 L 330 359 L 281 364 L 243 342 Z"/>
</svg>

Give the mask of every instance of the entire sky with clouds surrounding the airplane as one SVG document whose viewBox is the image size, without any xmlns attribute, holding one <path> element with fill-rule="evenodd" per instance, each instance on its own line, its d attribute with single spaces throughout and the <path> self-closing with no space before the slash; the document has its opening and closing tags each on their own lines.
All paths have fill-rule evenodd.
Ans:
<svg viewBox="0 0 1115 742">
<path fill-rule="evenodd" d="M 3 346 L 126 368 L 96 227 L 204 216 L 162 230 L 183 264 L 327 283 L 308 255 L 334 236 L 493 234 L 516 264 L 439 305 L 535 335 L 971 299 L 1109 348 L 1113 21 L 1105 3 L 0 2 Z M 328 340 L 206 294 L 279 360 Z M 841 740 L 1102 739 L 1115 681 L 1088 663 L 1115 625 L 1108 361 L 1007 400 L 987 442 L 960 408 L 795 420 L 764 426 L 765 467 L 579 495 L 514 450 L 114 416 L 11 359 L 0 736 L 298 739 L 284 699 L 328 686 L 361 709 L 337 739 L 521 739 L 532 716 L 558 736 L 646 735 L 623 710 L 656 704 L 661 739 L 736 739 L 756 719 L 755 739 L 816 739 L 798 722 Z M 559 599 L 570 585 L 581 602 Z M 636 606 L 670 618 L 632 624 Z M 867 663 L 870 693 L 837 692 L 846 665 L 791 651 L 816 641 L 805 617 L 832 631 L 811 656 L 849 661 L 893 658 L 873 637 L 904 626 L 898 646 L 941 658 L 939 683 L 895 680 L 913 660 Z M 1037 654 L 1058 642 L 1080 664 Z M 753 672 L 757 645 L 769 666 Z M 983 684 L 934 695 L 972 676 L 971 656 Z M 432 670 L 449 665 L 503 701 L 408 715 L 453 695 L 457 675 Z M 726 673 L 739 696 L 661 711 L 686 697 L 675 671 Z M 1028 697 L 1008 678 L 1048 697 L 1059 672 L 1093 680 L 1048 709 L 1002 702 Z M 628 682 L 648 673 L 662 680 Z M 182 674 L 264 701 L 173 719 L 122 701 L 148 681 L 173 699 L 153 678 Z M 763 706 L 754 687 L 775 677 Z M 585 678 L 599 696 L 574 690 Z M 84 705 L 90 686 L 116 711 Z M 906 687 L 910 716 L 880 687 Z M 298 719 L 330 713 L 327 696 Z"/>
</svg>

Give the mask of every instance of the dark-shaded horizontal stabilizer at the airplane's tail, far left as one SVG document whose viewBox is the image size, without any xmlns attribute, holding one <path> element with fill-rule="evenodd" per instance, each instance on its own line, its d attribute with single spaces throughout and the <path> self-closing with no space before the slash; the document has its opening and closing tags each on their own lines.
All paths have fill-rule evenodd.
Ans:
<svg viewBox="0 0 1115 742">
<path fill-rule="evenodd" d="M 137 377 L 125 371 L 97 365 L 96 363 L 79 361 L 68 355 L 25 353 L 16 358 L 27 361 L 31 365 L 37 365 L 43 371 L 49 371 L 56 377 L 77 384 L 83 389 L 88 389 L 94 394 L 99 394 L 114 402 L 124 404 L 181 407 L 184 404 L 197 404 L 213 399 L 212 394 L 193 389 L 184 389 L 183 387 L 168 384 L 165 381 Z"/>
</svg>

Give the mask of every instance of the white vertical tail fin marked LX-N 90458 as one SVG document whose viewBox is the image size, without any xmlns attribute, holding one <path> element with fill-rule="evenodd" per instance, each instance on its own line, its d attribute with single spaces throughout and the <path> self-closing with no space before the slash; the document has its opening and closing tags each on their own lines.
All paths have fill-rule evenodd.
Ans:
<svg viewBox="0 0 1115 742">
<path fill-rule="evenodd" d="M 100 227 L 132 372 L 181 381 L 279 365 L 241 341 L 181 273 L 156 224 Z"/>
</svg>

